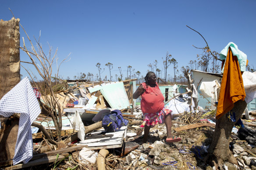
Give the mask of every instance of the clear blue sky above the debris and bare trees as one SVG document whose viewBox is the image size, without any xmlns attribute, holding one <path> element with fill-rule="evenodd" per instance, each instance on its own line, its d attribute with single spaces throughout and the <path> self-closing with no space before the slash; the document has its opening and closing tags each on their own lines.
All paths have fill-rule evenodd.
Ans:
<svg viewBox="0 0 256 170">
<path fill-rule="evenodd" d="M 202 51 L 192 45 L 206 44 L 186 25 L 199 31 L 212 51 L 220 52 L 234 42 L 247 55 L 249 65 L 256 67 L 255 7 L 256 0 L 3 0 L 0 19 L 11 19 L 10 8 L 31 38 L 38 38 L 41 30 L 46 53 L 48 42 L 53 51 L 58 48 L 59 60 L 71 53 L 71 59 L 60 67 L 63 78 L 72 79 L 81 72 L 96 75 L 95 65 L 100 62 L 105 68 L 102 78 L 107 74 L 109 79 L 105 64 L 111 62 L 115 80 L 119 66 L 124 77 L 129 65 L 144 76 L 147 65 L 155 60 L 162 69 L 167 51 L 179 69 L 195 60 Z M 22 39 L 25 34 L 20 31 Z M 20 51 L 20 56 L 21 61 L 29 61 L 25 52 Z M 23 68 L 21 74 L 28 76 Z M 167 74 L 173 76 L 172 66 Z"/>
</svg>

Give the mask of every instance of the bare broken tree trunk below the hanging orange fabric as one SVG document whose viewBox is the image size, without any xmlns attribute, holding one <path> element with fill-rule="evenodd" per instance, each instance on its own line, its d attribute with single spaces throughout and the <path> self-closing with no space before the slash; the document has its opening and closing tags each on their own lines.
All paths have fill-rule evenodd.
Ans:
<svg viewBox="0 0 256 170">
<path fill-rule="evenodd" d="M 236 121 L 242 117 L 246 105 L 246 102 L 242 100 L 235 102 L 232 111 L 235 112 Z M 236 122 L 228 121 L 226 114 L 216 122 L 212 143 L 208 149 L 209 154 L 205 158 L 205 160 L 207 160 L 210 157 L 208 161 L 210 161 L 212 165 L 215 165 L 216 169 L 226 161 L 238 165 L 237 160 L 229 149 L 231 131 L 235 123 Z"/>
</svg>

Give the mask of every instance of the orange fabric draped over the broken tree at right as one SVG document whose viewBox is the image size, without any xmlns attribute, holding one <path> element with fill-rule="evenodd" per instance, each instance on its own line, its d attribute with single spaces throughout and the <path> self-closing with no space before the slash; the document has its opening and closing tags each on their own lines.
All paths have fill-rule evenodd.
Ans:
<svg viewBox="0 0 256 170">
<path fill-rule="evenodd" d="M 223 77 L 220 85 L 220 97 L 217 106 L 216 118 L 219 119 L 234 107 L 234 103 L 245 100 L 245 89 L 238 59 L 228 49 Z"/>
</svg>

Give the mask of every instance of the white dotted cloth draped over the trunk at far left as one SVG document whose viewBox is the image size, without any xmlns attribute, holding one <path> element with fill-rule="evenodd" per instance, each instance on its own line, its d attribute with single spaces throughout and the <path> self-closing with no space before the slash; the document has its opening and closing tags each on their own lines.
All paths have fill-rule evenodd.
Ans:
<svg viewBox="0 0 256 170">
<path fill-rule="evenodd" d="M 36 95 L 28 77 L 21 80 L 0 100 L 0 115 L 9 117 L 20 113 L 18 137 L 14 151 L 13 164 L 27 163 L 33 157 L 31 125 L 41 113 Z"/>
</svg>

